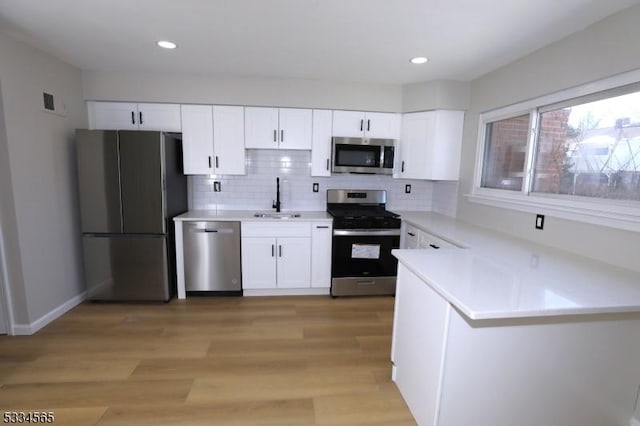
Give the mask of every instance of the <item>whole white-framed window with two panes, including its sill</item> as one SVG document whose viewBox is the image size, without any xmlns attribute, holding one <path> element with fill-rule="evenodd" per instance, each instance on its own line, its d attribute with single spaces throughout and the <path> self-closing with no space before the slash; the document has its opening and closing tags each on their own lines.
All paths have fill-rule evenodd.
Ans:
<svg viewBox="0 0 640 426">
<path fill-rule="evenodd" d="M 638 81 L 640 71 L 481 114 L 471 201 L 640 230 Z"/>
</svg>

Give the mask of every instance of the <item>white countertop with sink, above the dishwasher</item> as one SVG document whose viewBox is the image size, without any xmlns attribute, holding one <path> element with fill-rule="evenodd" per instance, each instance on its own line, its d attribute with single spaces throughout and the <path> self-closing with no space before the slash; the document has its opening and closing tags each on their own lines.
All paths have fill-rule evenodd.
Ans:
<svg viewBox="0 0 640 426">
<path fill-rule="evenodd" d="M 251 222 L 309 222 L 327 221 L 333 218 L 326 211 L 283 211 L 282 213 L 299 213 L 300 217 L 295 218 L 263 218 L 254 217 L 255 213 L 274 213 L 273 210 L 190 210 L 173 218 L 176 222 L 201 221 L 201 220 L 221 220 L 221 221 L 251 221 Z"/>
</svg>

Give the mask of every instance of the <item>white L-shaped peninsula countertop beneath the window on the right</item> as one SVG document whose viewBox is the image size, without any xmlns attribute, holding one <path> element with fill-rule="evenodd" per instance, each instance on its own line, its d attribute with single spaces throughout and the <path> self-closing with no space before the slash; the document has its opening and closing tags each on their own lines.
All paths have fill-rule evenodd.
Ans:
<svg viewBox="0 0 640 426">
<path fill-rule="evenodd" d="M 640 312 L 640 273 L 420 212 L 402 219 L 465 248 L 393 254 L 472 320 Z"/>
</svg>

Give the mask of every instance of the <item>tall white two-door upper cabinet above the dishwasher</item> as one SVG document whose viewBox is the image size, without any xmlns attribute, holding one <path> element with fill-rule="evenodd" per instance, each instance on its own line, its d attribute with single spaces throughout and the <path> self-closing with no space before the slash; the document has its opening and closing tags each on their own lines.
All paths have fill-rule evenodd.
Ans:
<svg viewBox="0 0 640 426">
<path fill-rule="evenodd" d="M 243 175 L 244 108 L 182 105 L 184 173 Z"/>
</svg>

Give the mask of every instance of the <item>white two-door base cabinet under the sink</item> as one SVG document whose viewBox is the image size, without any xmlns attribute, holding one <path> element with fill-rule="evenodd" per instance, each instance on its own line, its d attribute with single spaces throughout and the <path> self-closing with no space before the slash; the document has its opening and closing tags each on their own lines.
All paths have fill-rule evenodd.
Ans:
<svg viewBox="0 0 640 426">
<path fill-rule="evenodd" d="M 311 223 L 243 223 L 244 290 L 311 287 Z"/>
</svg>

